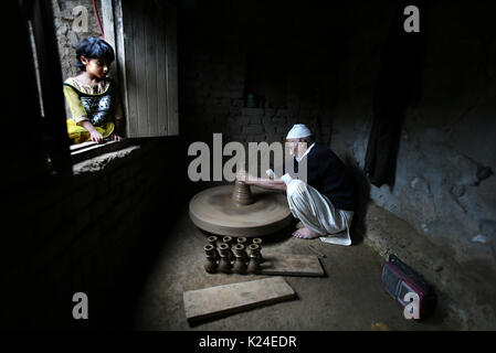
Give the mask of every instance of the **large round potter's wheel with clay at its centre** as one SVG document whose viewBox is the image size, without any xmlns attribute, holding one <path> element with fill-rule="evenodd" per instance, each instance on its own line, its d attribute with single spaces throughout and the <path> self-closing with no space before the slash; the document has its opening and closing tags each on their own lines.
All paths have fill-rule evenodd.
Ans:
<svg viewBox="0 0 496 353">
<path fill-rule="evenodd" d="M 191 221 L 218 235 L 258 237 L 277 232 L 292 222 L 286 196 L 243 182 L 207 189 L 189 204 Z"/>
</svg>

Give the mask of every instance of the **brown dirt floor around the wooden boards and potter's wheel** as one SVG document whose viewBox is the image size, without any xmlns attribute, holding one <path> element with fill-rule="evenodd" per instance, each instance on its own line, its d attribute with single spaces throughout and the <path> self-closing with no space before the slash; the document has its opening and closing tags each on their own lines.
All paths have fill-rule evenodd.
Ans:
<svg viewBox="0 0 496 353">
<path fill-rule="evenodd" d="M 268 276 L 207 274 L 203 245 L 209 234 L 197 228 L 188 210 L 170 224 L 159 256 L 140 291 L 133 315 L 138 330 L 456 330 L 441 311 L 425 321 L 407 320 L 402 308 L 381 287 L 383 259 L 363 242 L 350 247 L 293 237 L 292 227 L 264 237 L 264 249 L 281 254 L 326 255 L 326 276 L 284 278 L 297 298 L 250 309 L 191 327 L 186 320 L 186 290 L 249 281 Z"/>
</svg>

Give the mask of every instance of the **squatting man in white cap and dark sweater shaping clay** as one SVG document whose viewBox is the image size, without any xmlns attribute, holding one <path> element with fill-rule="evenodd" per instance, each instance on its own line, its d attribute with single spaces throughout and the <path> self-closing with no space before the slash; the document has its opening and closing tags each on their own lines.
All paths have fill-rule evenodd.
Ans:
<svg viewBox="0 0 496 353">
<path fill-rule="evenodd" d="M 243 170 L 238 172 L 238 180 L 246 185 L 284 191 L 292 214 L 303 225 L 293 233 L 295 237 L 319 237 L 325 243 L 351 245 L 349 228 L 356 207 L 356 185 L 349 168 L 329 148 L 317 143 L 304 124 L 293 126 L 286 143 L 291 146 L 296 169 L 302 162 L 308 168 L 308 182 L 289 173 L 262 179 Z"/>
</svg>

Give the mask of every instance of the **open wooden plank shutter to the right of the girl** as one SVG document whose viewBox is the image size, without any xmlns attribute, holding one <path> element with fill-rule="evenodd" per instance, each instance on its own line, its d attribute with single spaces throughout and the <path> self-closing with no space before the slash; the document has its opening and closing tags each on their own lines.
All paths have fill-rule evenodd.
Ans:
<svg viewBox="0 0 496 353">
<path fill-rule="evenodd" d="M 178 135 L 176 7 L 162 1 L 103 0 L 102 13 L 105 40 L 116 51 L 126 136 Z"/>
</svg>

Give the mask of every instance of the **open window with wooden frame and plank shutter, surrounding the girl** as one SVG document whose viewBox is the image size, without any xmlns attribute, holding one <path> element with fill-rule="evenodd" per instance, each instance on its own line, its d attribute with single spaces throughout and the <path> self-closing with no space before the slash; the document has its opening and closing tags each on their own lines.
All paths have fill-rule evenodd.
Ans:
<svg viewBox="0 0 496 353">
<path fill-rule="evenodd" d="M 35 100 L 40 103 L 41 114 L 36 113 L 40 115 L 36 124 L 42 126 L 46 150 L 43 153 L 52 167 L 56 171 L 71 170 L 72 163 L 128 145 L 129 138 L 178 135 L 175 4 L 152 0 L 102 0 L 105 41 L 116 53 L 113 76 L 119 86 L 127 139 L 71 146 L 62 94 L 62 82 L 66 77 L 61 75 L 53 15 L 54 6 L 59 3 L 63 4 L 53 0 L 31 0 L 20 7 L 35 66 L 29 81 L 36 82 L 39 89 Z M 72 61 L 73 54 L 68 57 Z"/>
</svg>

